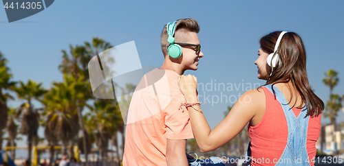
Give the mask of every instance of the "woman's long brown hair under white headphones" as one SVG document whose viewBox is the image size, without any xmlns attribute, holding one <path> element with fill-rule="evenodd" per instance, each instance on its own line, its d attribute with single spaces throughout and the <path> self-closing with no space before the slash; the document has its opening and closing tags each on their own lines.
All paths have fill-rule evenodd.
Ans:
<svg viewBox="0 0 344 166">
<path fill-rule="evenodd" d="M 281 34 L 281 32 L 276 31 L 261 38 L 259 41 L 261 49 L 267 54 L 272 54 L 279 34 Z M 300 36 L 294 32 L 284 34 L 276 53 L 279 55 L 279 62 L 277 62 L 276 67 L 272 69 L 270 78 L 268 78 L 268 81 L 266 81 L 264 85 L 274 85 L 279 82 L 287 83 L 291 81 L 293 84 L 292 88 L 301 95 L 301 101 L 308 109 L 306 117 L 308 115 L 311 117 L 318 117 L 324 109 L 324 104 L 323 101 L 314 94 L 308 82 L 305 67 L 305 47 L 303 46 Z M 274 56 L 276 56 L 276 54 Z M 276 97 L 273 88 L 272 91 Z M 303 106 L 301 105 L 297 108 L 303 108 Z"/>
</svg>

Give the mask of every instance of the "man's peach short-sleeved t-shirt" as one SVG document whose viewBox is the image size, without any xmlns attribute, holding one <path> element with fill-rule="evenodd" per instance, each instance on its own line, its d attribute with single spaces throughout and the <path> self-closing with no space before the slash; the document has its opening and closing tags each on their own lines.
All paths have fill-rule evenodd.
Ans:
<svg viewBox="0 0 344 166">
<path fill-rule="evenodd" d="M 178 73 L 154 69 L 144 75 L 129 106 L 123 165 L 167 165 L 167 139 L 191 139 L 193 132 Z"/>
</svg>

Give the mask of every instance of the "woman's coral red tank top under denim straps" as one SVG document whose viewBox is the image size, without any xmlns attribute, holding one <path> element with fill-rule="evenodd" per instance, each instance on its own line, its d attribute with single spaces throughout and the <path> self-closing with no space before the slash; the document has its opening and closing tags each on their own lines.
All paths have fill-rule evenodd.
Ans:
<svg viewBox="0 0 344 166">
<path fill-rule="evenodd" d="M 288 126 L 283 108 L 275 96 L 266 88 L 266 110 L 263 119 L 256 125 L 248 125 L 248 135 L 251 141 L 251 165 L 276 165 L 283 154 L 287 145 Z M 298 117 L 301 109 L 292 108 L 294 115 Z M 310 165 L 314 165 L 316 154 L 316 141 L 319 138 L 321 130 L 321 114 L 318 117 L 310 117 L 308 121 L 307 133 L 307 152 Z"/>
</svg>

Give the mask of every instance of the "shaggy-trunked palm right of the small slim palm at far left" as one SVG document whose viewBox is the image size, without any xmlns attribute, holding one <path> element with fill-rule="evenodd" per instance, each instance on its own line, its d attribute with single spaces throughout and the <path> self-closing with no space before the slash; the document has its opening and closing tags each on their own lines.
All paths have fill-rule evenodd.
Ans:
<svg viewBox="0 0 344 166">
<path fill-rule="evenodd" d="M 32 144 L 38 143 L 38 128 L 39 128 L 39 113 L 37 109 L 34 110 L 32 106 L 32 99 L 41 101 L 41 96 L 47 91 L 42 88 L 42 83 L 36 84 L 32 80 L 28 80 L 27 84 L 19 82 L 19 87 L 14 87 L 13 90 L 17 93 L 19 99 L 25 99 L 26 102 L 21 104 L 17 112 L 17 117 L 21 116 L 21 133 L 28 136 L 28 160 L 32 155 Z"/>
</svg>

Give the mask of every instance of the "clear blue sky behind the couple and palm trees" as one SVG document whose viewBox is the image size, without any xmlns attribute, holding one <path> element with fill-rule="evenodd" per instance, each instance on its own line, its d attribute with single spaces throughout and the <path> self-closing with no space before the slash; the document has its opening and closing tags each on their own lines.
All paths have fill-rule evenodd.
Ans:
<svg viewBox="0 0 344 166">
<path fill-rule="evenodd" d="M 0 9 L 0 51 L 9 60 L 13 80 L 32 79 L 49 88 L 52 82 L 63 79 L 58 64 L 62 61 L 61 50 L 69 51 L 69 44 L 83 45 L 92 37 L 103 38 L 111 45 L 135 40 L 142 66 L 160 67 L 164 60 L 160 49 L 164 25 L 193 18 L 200 23 L 204 58 L 197 71 L 185 74 L 197 76 L 204 86 L 224 83 L 241 87 L 230 92 L 199 91 L 211 99 L 242 95 L 243 84 L 244 90 L 250 84 L 252 88 L 264 84 L 257 79 L 254 64 L 259 39 L 275 30 L 286 30 L 301 36 L 310 84 L 326 102 L 329 88 L 322 79 L 329 69 L 339 73 L 334 93 L 344 94 L 343 6 L 344 1 L 54 1 L 46 10 L 13 23 L 8 23 L 5 10 Z M 202 97 L 200 100 L 204 102 Z M 21 101 L 14 101 L 9 106 L 19 104 Z M 211 128 L 231 105 L 213 101 L 202 106 Z M 342 112 L 339 121 L 343 121 Z M 323 118 L 322 122 L 329 120 Z M 43 137 L 42 132 L 40 135 Z"/>
</svg>

